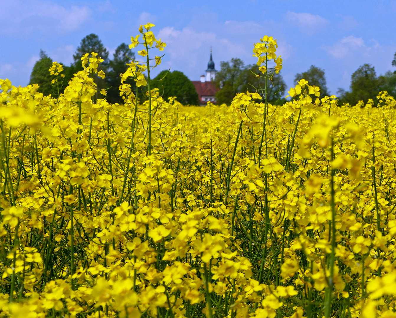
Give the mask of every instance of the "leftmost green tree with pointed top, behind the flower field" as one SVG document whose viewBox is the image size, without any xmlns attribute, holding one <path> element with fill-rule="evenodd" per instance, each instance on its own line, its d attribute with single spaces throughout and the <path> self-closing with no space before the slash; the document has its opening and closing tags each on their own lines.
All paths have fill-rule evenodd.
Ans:
<svg viewBox="0 0 396 318">
<path fill-rule="evenodd" d="M 38 84 L 38 92 L 48 96 L 52 93 L 51 81 L 54 79 L 53 75 L 50 75 L 48 69 L 52 65 L 52 59 L 46 55 L 43 50 L 40 50 L 40 60 L 38 60 L 34 66 L 32 73 L 30 74 L 29 84 Z"/>
</svg>

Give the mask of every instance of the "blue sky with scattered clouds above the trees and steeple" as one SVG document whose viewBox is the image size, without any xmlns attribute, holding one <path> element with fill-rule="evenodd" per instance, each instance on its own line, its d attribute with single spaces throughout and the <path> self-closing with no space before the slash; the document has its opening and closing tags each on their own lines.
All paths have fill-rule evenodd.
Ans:
<svg viewBox="0 0 396 318">
<path fill-rule="evenodd" d="M 40 49 L 69 65 L 87 34 L 97 34 L 113 53 L 147 22 L 167 43 L 156 72 L 170 67 L 191 80 L 206 70 L 211 46 L 217 69 L 233 57 L 254 63 L 253 43 L 264 35 L 278 40 L 287 88 L 312 64 L 325 70 L 332 94 L 348 89 L 364 63 L 377 74 L 395 70 L 395 0 L 0 0 L 0 8 L 0 78 L 16 86 L 29 82 Z"/>
</svg>

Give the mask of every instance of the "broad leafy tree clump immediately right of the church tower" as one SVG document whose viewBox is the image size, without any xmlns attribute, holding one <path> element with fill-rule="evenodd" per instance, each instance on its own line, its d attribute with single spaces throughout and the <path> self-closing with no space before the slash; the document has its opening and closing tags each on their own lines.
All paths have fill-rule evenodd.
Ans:
<svg viewBox="0 0 396 318">
<path fill-rule="evenodd" d="M 280 74 L 268 73 L 268 77 L 267 100 L 276 102 L 282 96 L 286 85 Z M 265 76 L 256 64 L 245 66 L 240 58 L 232 58 L 230 61 L 220 62 L 220 71 L 216 73 L 215 83 L 220 88 L 216 94 L 217 102 L 230 104 L 235 94 L 247 90 L 250 92 L 257 90 L 263 95 Z"/>
</svg>

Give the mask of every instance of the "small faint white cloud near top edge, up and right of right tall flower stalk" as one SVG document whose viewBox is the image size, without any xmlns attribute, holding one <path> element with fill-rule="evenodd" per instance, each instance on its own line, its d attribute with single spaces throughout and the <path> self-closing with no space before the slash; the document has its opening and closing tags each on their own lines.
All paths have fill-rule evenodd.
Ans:
<svg viewBox="0 0 396 318">
<path fill-rule="evenodd" d="M 286 12 L 286 21 L 308 35 L 313 35 L 324 29 L 324 27 L 326 27 L 326 25 L 330 22 L 320 15 L 313 15 L 310 13 L 295 13 L 292 11 Z"/>
</svg>

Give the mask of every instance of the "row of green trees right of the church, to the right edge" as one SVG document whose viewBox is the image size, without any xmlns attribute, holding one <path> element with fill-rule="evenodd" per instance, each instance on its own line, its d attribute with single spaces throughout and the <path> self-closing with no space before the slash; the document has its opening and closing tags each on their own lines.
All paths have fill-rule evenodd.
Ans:
<svg viewBox="0 0 396 318">
<path fill-rule="evenodd" d="M 396 67 L 396 53 L 392 66 Z M 245 65 L 240 58 L 220 62 L 220 71 L 216 73 L 215 78 L 215 83 L 219 88 L 216 94 L 217 102 L 230 104 L 236 93 L 256 89 L 260 91 L 265 85 L 265 77 L 257 77 L 257 74 L 261 74 L 258 68 L 255 64 Z M 294 84 L 297 84 L 300 79 L 306 79 L 310 85 L 320 87 L 319 98 L 330 95 L 323 69 L 311 65 L 307 71 L 295 75 Z M 376 100 L 381 90 L 386 90 L 389 95 L 396 98 L 396 71 L 388 71 L 384 75 L 377 76 L 374 66 L 364 64 L 352 74 L 349 90 L 339 88 L 336 96 L 340 105 L 343 103 L 356 105 L 360 100 L 364 103 L 367 103 L 369 99 Z M 286 102 L 285 93 L 287 93 L 287 87 L 281 73 L 271 76 L 268 81 L 267 100 L 282 104 Z"/>
</svg>

